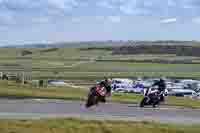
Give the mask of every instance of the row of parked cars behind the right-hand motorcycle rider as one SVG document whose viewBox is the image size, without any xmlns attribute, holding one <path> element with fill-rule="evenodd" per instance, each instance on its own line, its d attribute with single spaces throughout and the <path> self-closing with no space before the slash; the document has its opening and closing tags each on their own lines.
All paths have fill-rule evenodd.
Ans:
<svg viewBox="0 0 200 133">
<path fill-rule="evenodd" d="M 114 92 L 124 93 L 139 93 L 144 94 L 148 87 L 159 79 L 122 79 L 115 78 L 112 80 L 112 90 Z M 178 80 L 178 79 L 166 79 L 166 95 L 173 96 L 200 96 L 200 81 L 199 80 Z"/>
</svg>

